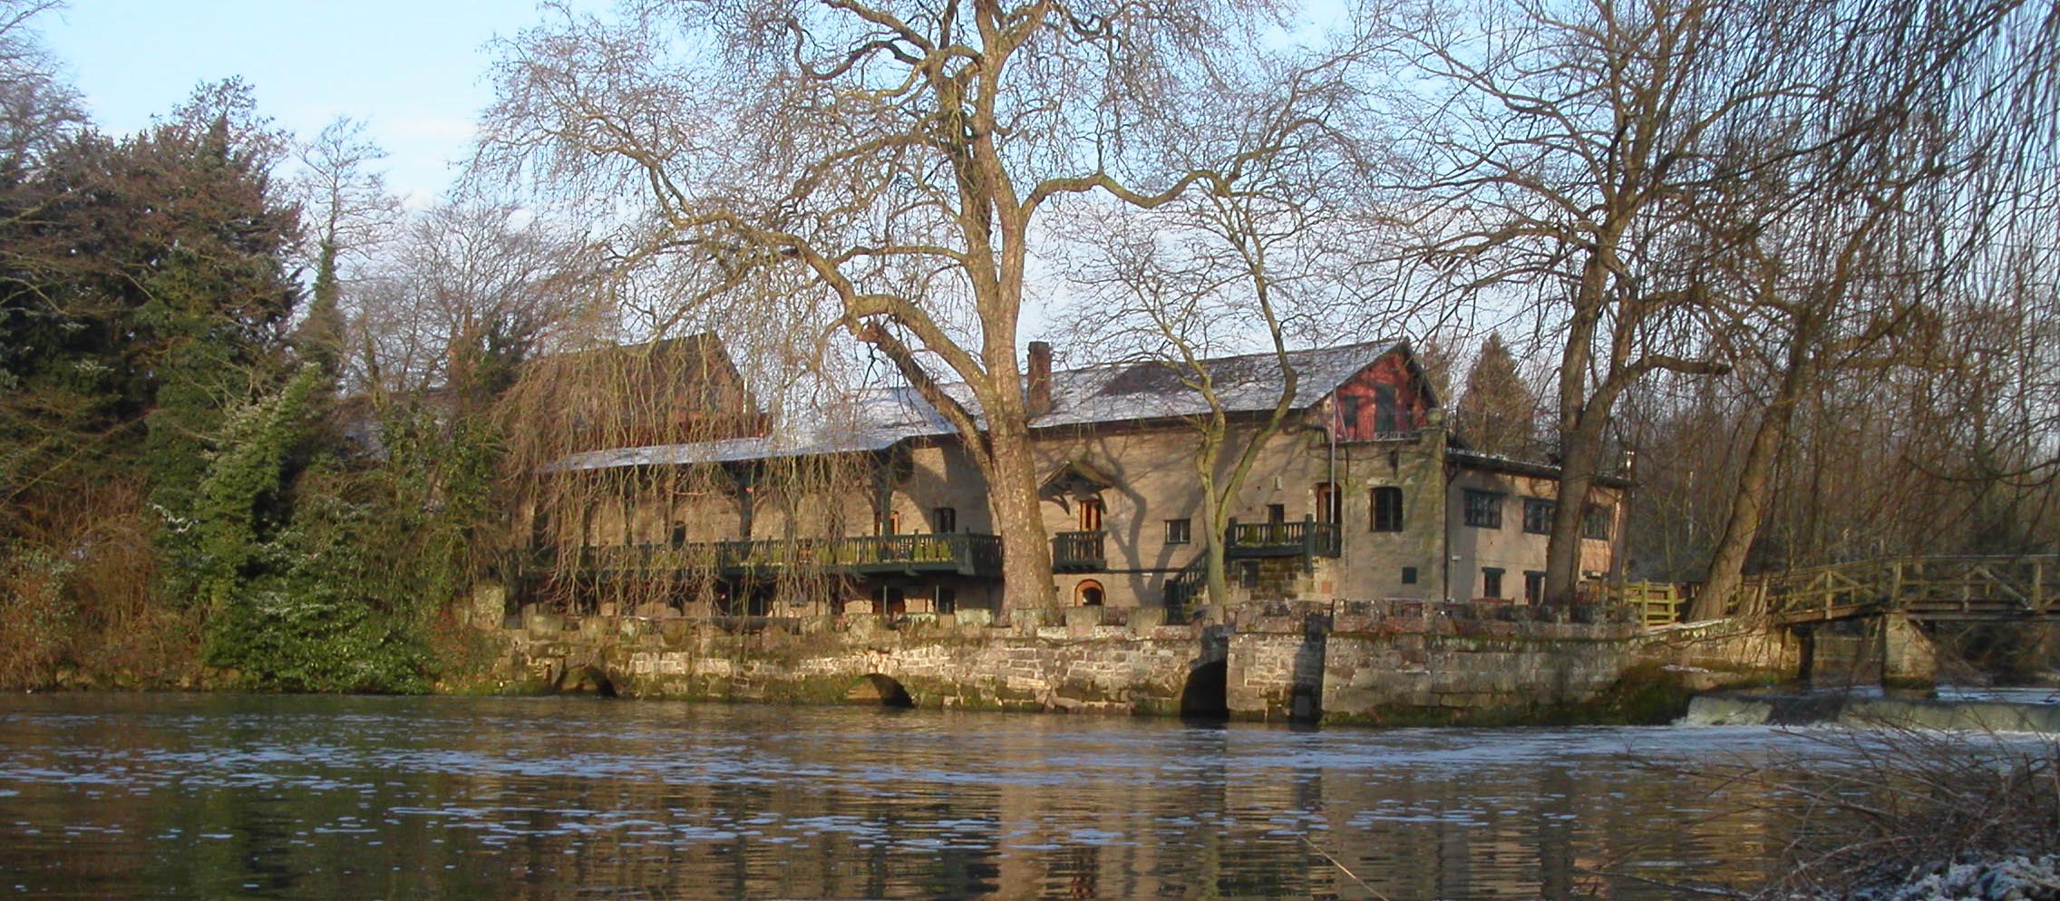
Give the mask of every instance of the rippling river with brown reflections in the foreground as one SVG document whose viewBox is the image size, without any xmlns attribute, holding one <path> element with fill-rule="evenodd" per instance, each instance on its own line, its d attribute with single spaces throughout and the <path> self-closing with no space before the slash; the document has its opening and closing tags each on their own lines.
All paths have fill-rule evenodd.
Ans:
<svg viewBox="0 0 2060 901">
<path fill-rule="evenodd" d="M 0 891 L 93 899 L 1673 899 L 1772 728 L 1290 730 L 585 697 L 0 699 Z M 1712 819 L 1761 804 L 1763 810 Z"/>
</svg>

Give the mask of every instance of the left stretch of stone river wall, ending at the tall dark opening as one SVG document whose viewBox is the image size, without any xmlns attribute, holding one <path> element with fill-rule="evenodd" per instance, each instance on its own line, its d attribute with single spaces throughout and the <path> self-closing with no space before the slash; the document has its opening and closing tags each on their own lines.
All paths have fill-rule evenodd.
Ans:
<svg viewBox="0 0 2060 901">
<path fill-rule="evenodd" d="M 606 685 L 626 697 L 836 704 L 892 679 L 925 708 L 1178 714 L 1222 629 L 1162 625 L 1158 611 L 1073 609 L 1059 625 L 987 611 L 810 619 L 641 619 L 529 611 L 501 629 L 499 689 Z M 1117 619 L 1117 617 L 1110 617 Z"/>
</svg>

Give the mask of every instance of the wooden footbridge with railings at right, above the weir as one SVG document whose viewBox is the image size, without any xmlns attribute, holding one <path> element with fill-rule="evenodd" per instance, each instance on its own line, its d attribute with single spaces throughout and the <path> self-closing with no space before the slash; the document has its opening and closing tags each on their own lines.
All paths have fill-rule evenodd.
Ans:
<svg viewBox="0 0 2060 901">
<path fill-rule="evenodd" d="M 1648 625 L 1675 621 L 1671 584 L 1623 584 Z M 1751 576 L 1726 615 L 1809 625 L 1901 613 L 1916 621 L 2060 621 L 2060 555 L 1885 557 Z"/>
</svg>

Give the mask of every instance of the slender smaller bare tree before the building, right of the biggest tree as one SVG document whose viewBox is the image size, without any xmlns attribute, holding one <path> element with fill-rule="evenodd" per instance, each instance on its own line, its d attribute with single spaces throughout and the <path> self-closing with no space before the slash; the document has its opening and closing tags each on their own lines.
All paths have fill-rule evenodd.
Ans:
<svg viewBox="0 0 2060 901">
<path fill-rule="evenodd" d="M 1370 286 L 1368 267 L 1351 253 L 1364 226 L 1335 197 L 1355 156 L 1353 142 L 1306 128 L 1323 95 L 1323 121 L 1351 93 L 1329 68 L 1283 72 L 1281 91 L 1222 109 L 1224 125 L 1209 138 L 1240 148 L 1220 156 L 1246 158 L 1226 173 L 1222 189 L 1195 193 L 1158 210 L 1100 208 L 1079 222 L 1082 247 L 1069 278 L 1086 294 L 1063 311 L 1071 346 L 1094 348 L 1102 360 L 1164 368 L 1170 383 L 1201 399 L 1182 418 L 1199 442 L 1191 465 L 1201 485 L 1201 562 L 1213 605 L 1230 599 L 1224 535 L 1234 500 L 1267 442 L 1292 428 L 1300 372 L 1288 360 L 1292 344 L 1335 339 L 1345 311 L 1362 321 L 1407 319 L 1386 282 Z M 1300 136 L 1296 134 L 1300 132 Z M 1257 360 L 1213 362 L 1257 348 Z M 1255 395 L 1255 385 L 1273 385 Z M 1255 403 L 1265 411 L 1250 416 Z"/>
</svg>

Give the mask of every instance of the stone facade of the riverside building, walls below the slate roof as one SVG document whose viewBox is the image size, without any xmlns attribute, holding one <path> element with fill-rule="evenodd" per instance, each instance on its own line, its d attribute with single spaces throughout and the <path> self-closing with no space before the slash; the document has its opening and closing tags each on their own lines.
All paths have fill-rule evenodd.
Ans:
<svg viewBox="0 0 2060 901">
<path fill-rule="evenodd" d="M 1240 535 L 1257 535 L 1255 541 L 1267 535 L 1296 535 L 1296 541 L 1304 533 L 1323 535 L 1325 547 L 1232 553 L 1236 560 L 1226 566 L 1232 594 L 1226 601 L 1522 603 L 1526 586 L 1545 568 L 1545 535 L 1524 529 L 1524 508 L 1553 500 L 1553 471 L 1452 446 L 1436 397 L 1413 376 L 1407 348 L 1364 348 L 1370 350 L 1308 352 L 1312 360 L 1327 360 L 1335 385 L 1312 391 L 1308 403 L 1263 440 L 1248 475 L 1228 500 L 1232 520 L 1246 527 Z M 1265 366 L 1277 372 L 1271 360 L 1252 366 L 1261 374 Z M 1055 537 L 1055 557 L 1061 557 L 1057 549 L 1065 541 L 1086 541 L 1067 547 L 1094 551 L 1092 560 L 1055 566 L 1055 594 L 1071 605 L 1162 607 L 1174 597 L 1182 570 L 1189 582 L 1197 576 L 1193 568 L 1211 529 L 1197 473 L 1199 432 L 1184 416 L 1152 416 L 1172 409 L 1152 401 L 1180 401 L 1143 391 L 1166 381 L 1164 372 L 1096 368 L 1057 372 L 1055 379 L 1073 389 L 1059 393 L 1053 416 L 1032 422 L 1038 467 L 1051 473 L 1044 529 Z M 1143 399 L 1133 399 L 1129 389 Z M 1069 403 L 1079 409 L 1069 409 Z M 1236 450 L 1259 428 L 1255 416 L 1248 409 L 1232 416 L 1230 453 L 1213 473 L 1217 483 L 1230 481 Z M 550 541 L 560 551 L 579 553 L 622 547 L 659 547 L 663 553 L 665 545 L 873 541 L 946 533 L 991 537 L 995 531 L 985 477 L 956 434 L 913 430 L 865 450 L 826 444 L 830 450 L 808 457 L 814 461 L 808 465 L 816 467 L 812 479 L 779 477 L 781 471 L 803 469 L 801 457 L 721 457 L 733 450 L 731 444 L 624 448 L 616 457 L 604 455 L 608 465 L 564 473 L 566 479 L 612 479 L 608 492 L 571 492 L 610 500 L 544 516 L 556 529 Z M 709 463 L 692 463 L 702 457 Z M 651 463 L 659 459 L 672 463 Z M 1582 541 L 1584 572 L 1615 568 L 1621 490 L 1619 481 L 1603 479 L 1586 498 L 1607 518 L 1607 529 L 1599 539 Z M 1469 504 L 1479 504 L 1469 498 L 1477 496 L 1494 498 L 1494 527 L 1469 514 Z M 538 520 L 536 510 L 525 510 L 525 516 Z M 686 617 L 1001 611 L 999 568 L 939 572 L 935 566 L 873 566 L 830 576 L 838 578 L 772 584 L 764 572 L 713 572 L 707 580 L 719 584 L 709 590 L 690 584 L 692 578 L 665 574 L 643 578 L 634 592 L 620 592 L 639 594 L 639 601 L 616 609 L 655 603 L 655 613 L 672 609 Z M 599 568 L 591 578 L 560 578 L 560 584 L 585 592 L 585 603 L 575 607 L 599 611 L 606 609 L 597 599 L 608 597 L 608 580 L 620 584 L 632 578 L 639 576 L 622 568 Z M 735 601 L 744 594 L 752 594 L 748 605 Z"/>
</svg>

